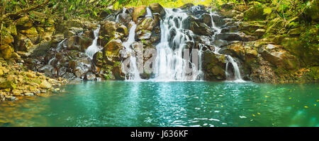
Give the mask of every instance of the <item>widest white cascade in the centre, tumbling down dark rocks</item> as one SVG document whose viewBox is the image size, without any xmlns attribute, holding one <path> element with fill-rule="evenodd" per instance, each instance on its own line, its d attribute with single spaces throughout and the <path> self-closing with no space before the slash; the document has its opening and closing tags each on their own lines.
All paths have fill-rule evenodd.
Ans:
<svg viewBox="0 0 319 141">
<path fill-rule="evenodd" d="M 194 64 L 183 59 L 183 51 L 187 42 L 193 42 L 193 32 L 183 27 L 189 16 L 181 9 L 165 8 L 166 16 L 160 22 L 161 40 L 157 44 L 155 60 L 155 77 L 153 80 L 196 80 L 198 72 L 194 72 Z M 185 54 L 184 54 L 185 55 Z M 189 63 L 193 66 L 192 75 L 187 74 Z M 196 74 L 195 74 L 196 73 Z"/>
</svg>

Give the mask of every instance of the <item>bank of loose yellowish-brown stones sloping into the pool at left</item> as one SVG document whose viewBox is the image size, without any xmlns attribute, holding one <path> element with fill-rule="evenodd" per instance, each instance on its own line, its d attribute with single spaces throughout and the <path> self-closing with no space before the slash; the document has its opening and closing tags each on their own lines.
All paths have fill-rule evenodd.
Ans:
<svg viewBox="0 0 319 141">
<path fill-rule="evenodd" d="M 28 70 L 23 63 L 0 59 L 0 101 L 15 101 L 23 97 L 40 96 L 60 91 L 67 80 L 47 78 L 43 73 Z"/>
</svg>

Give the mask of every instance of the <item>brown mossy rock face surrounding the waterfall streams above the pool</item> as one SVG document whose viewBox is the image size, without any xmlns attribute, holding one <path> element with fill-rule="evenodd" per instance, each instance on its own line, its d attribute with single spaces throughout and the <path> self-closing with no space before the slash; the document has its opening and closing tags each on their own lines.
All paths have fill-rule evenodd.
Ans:
<svg viewBox="0 0 319 141">
<path fill-rule="evenodd" d="M 43 18 L 38 19 L 43 22 L 35 23 L 28 16 L 18 18 L 12 25 L 4 25 L 8 34 L 3 37 L 0 59 L 14 59 L 19 65 L 23 64 L 51 78 L 123 80 L 125 74 L 121 62 L 137 54 L 136 44 L 142 44 L 143 49 L 156 49 L 161 40 L 160 21 L 166 18 L 167 12 L 159 4 L 150 4 L 148 8 L 152 16 L 146 16 L 147 6 L 125 7 L 125 11 L 114 12 L 99 22 L 70 18 L 55 23 L 51 18 Z M 181 30 L 183 36 L 189 38 L 183 44 L 186 49 L 203 50 L 205 80 L 226 79 L 228 58 L 225 56 L 228 55 L 233 56 L 238 64 L 242 78 L 254 82 L 298 79 L 291 78 L 291 75 L 301 68 L 319 65 L 319 50 L 315 47 L 317 44 L 306 46 L 308 42 L 318 43 L 318 27 L 315 25 L 318 22 L 317 0 L 310 1 L 305 9 L 304 16 L 314 23 L 308 28 L 296 25 L 297 18 L 276 18 L 272 9 L 256 2 L 247 6 L 223 4 L 214 13 L 211 13 L 211 7 L 194 4 L 185 4 L 181 9 L 188 18 L 180 25 L 182 29 L 171 30 L 169 34 L 173 37 L 177 30 Z M 172 8 L 172 11 L 179 9 Z M 177 22 L 167 24 L 173 23 Z M 128 41 L 134 24 L 135 42 L 130 46 L 134 52 L 121 56 L 123 42 Z M 96 36 L 94 31 L 98 27 L 99 34 Z M 168 39 L 169 45 L 180 45 L 178 41 L 172 43 L 172 37 Z M 90 58 L 86 50 L 92 44 L 96 44 L 96 53 Z M 145 57 L 144 63 L 150 57 Z M 233 66 L 229 67 L 231 69 Z M 30 92 L 25 92 L 24 88 L 18 87 L 19 82 L 24 80 L 23 76 L 9 74 L 9 68 L 5 68 L 0 67 L 0 89 L 6 93 L 7 99 L 36 94 L 38 88 L 44 91 L 55 87 L 56 82 L 43 79 L 43 75 L 27 73 L 23 76 L 35 79 L 36 82 L 28 84 Z M 311 68 L 306 79 L 318 78 L 317 75 L 311 75 L 316 74 L 317 70 Z M 148 79 L 150 75 L 143 73 L 140 76 Z"/>
</svg>

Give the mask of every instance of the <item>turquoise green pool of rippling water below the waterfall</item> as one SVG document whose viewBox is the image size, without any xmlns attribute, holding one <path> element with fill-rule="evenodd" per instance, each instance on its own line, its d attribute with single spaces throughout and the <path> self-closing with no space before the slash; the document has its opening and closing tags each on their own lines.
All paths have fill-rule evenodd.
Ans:
<svg viewBox="0 0 319 141">
<path fill-rule="evenodd" d="M 82 82 L 0 104 L 0 126 L 319 126 L 319 85 Z"/>
</svg>

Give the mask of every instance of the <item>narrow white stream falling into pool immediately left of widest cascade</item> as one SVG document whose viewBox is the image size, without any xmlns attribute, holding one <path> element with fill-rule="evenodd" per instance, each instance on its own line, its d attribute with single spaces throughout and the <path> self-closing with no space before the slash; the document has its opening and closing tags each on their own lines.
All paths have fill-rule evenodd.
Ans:
<svg viewBox="0 0 319 141">
<path fill-rule="evenodd" d="M 130 68 L 128 73 L 125 74 L 125 80 L 127 79 L 126 75 L 128 75 L 128 80 L 141 80 L 140 73 L 138 72 L 135 51 L 130 49 L 130 45 L 135 42 L 135 30 L 137 25 L 133 21 L 131 21 L 130 24 L 132 24 L 132 27 L 130 27 L 130 32 L 128 34 L 128 41 L 123 42 L 123 46 L 125 47 L 124 54 L 130 55 Z"/>
</svg>

